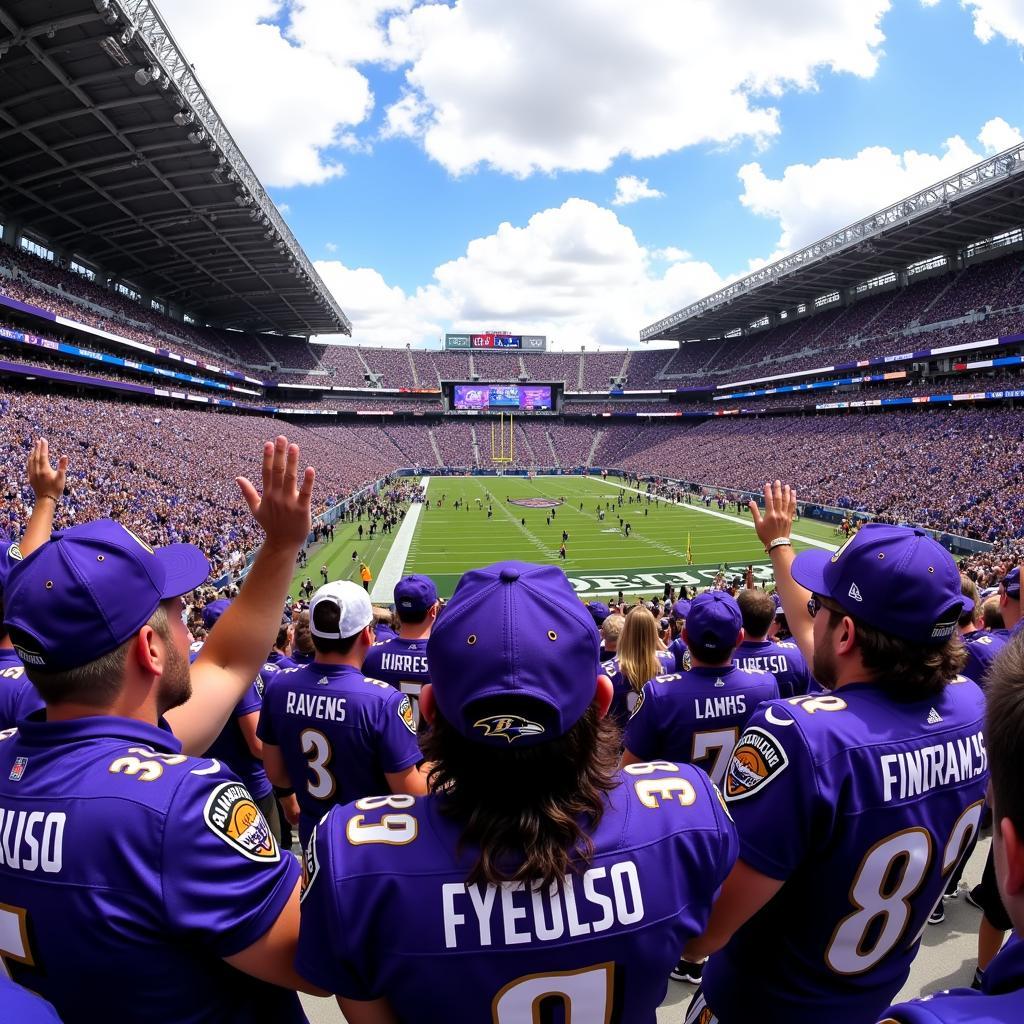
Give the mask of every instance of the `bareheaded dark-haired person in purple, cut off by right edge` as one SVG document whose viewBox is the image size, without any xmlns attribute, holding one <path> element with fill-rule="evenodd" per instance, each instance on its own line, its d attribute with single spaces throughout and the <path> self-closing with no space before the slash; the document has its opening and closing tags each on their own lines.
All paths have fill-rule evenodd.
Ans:
<svg viewBox="0 0 1024 1024">
<path fill-rule="evenodd" d="M 1024 637 L 989 669 L 985 738 L 991 758 L 992 860 L 1015 938 L 988 965 L 981 992 L 938 992 L 893 1007 L 883 1024 L 1019 1024 L 1024 1020 Z"/>
</svg>

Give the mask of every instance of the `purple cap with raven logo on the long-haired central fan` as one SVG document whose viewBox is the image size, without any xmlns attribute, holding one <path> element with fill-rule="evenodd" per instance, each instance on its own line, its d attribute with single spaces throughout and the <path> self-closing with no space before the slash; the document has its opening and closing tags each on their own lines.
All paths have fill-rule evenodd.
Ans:
<svg viewBox="0 0 1024 1024">
<path fill-rule="evenodd" d="M 565 573 L 516 561 L 467 572 L 427 641 L 441 714 L 467 739 L 503 748 L 568 732 L 594 699 L 600 650 Z"/>
</svg>

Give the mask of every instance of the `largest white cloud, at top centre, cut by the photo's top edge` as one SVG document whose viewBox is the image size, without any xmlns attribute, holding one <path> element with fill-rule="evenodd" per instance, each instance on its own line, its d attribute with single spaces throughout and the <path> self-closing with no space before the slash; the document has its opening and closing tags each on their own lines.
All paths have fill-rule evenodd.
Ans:
<svg viewBox="0 0 1024 1024">
<path fill-rule="evenodd" d="M 461 0 L 389 23 L 409 90 L 387 131 L 455 174 L 602 171 L 620 154 L 779 131 L 771 97 L 873 75 L 890 0 Z M 738 28 L 741 26 L 741 29 Z"/>
</svg>

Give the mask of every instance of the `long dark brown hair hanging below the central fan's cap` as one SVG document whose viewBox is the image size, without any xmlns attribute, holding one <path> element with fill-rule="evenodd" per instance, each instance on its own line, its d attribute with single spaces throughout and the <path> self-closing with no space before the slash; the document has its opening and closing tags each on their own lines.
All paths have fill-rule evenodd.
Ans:
<svg viewBox="0 0 1024 1024">
<path fill-rule="evenodd" d="M 551 884 L 588 863 L 621 739 L 593 706 L 565 735 L 521 750 L 466 739 L 438 712 L 423 740 L 428 786 L 462 825 L 461 847 L 478 851 L 468 881 Z"/>
</svg>

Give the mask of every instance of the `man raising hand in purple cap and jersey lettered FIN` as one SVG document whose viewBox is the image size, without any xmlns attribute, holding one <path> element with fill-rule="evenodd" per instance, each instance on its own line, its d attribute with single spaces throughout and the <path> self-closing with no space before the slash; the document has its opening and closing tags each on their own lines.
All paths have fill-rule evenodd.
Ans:
<svg viewBox="0 0 1024 1024">
<path fill-rule="evenodd" d="M 758 537 L 826 694 L 763 705 L 725 799 L 739 860 L 688 959 L 714 953 L 687 1021 L 861 1024 L 899 991 L 981 817 L 984 699 L 964 663 L 950 554 L 868 523 L 794 558 L 796 495 L 765 487 Z M 716 950 L 719 950 L 716 952 Z"/>
</svg>

